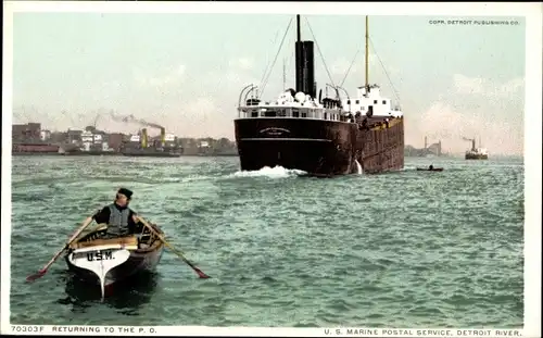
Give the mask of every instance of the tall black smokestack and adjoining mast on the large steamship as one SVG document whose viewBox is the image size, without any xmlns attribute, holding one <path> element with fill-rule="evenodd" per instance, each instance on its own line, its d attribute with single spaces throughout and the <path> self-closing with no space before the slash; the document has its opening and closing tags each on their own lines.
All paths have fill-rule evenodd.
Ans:
<svg viewBox="0 0 543 338">
<path fill-rule="evenodd" d="M 295 66 L 296 66 L 296 92 L 302 91 L 315 98 L 317 92 L 315 84 L 315 60 L 313 52 L 313 41 L 302 41 L 302 30 L 300 27 L 300 15 L 296 15 L 295 42 Z"/>
</svg>

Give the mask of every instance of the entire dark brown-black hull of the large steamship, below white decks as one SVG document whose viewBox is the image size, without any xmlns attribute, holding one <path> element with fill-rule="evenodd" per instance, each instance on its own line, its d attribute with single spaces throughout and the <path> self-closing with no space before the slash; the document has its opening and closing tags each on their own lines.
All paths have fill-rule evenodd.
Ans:
<svg viewBox="0 0 543 338">
<path fill-rule="evenodd" d="M 235 121 L 242 171 L 282 166 L 315 176 L 400 170 L 404 165 L 403 120 L 390 128 L 359 130 L 353 123 L 308 118 Z M 357 162 L 357 163 L 356 163 Z"/>
</svg>

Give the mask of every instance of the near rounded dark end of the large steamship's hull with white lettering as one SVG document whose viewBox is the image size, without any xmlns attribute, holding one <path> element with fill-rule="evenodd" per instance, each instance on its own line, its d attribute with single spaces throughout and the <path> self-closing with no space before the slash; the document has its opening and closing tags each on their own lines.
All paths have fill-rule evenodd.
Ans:
<svg viewBox="0 0 543 338">
<path fill-rule="evenodd" d="M 242 171 L 282 166 L 308 174 L 349 172 L 348 124 L 301 118 L 240 118 L 235 121 Z"/>
</svg>

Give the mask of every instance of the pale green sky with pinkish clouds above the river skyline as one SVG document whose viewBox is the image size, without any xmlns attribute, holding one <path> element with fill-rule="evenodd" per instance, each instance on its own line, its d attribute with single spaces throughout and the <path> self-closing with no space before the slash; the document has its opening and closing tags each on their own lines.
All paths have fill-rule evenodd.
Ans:
<svg viewBox="0 0 543 338">
<path fill-rule="evenodd" d="M 239 93 L 263 83 L 276 54 L 263 98 L 283 89 L 283 65 L 294 87 L 294 14 L 15 13 L 13 123 L 140 128 L 113 121 L 114 111 L 180 137 L 233 139 Z M 518 24 L 430 23 L 457 18 Z M 400 103 L 406 145 L 422 147 L 428 136 L 459 153 L 467 137 L 493 154 L 522 153 L 525 25 L 515 16 L 369 17 L 369 83 Z M 302 16 L 302 38 L 318 46 L 318 89 L 345 78 L 355 95 L 365 82 L 364 35 L 361 15 Z"/>
</svg>

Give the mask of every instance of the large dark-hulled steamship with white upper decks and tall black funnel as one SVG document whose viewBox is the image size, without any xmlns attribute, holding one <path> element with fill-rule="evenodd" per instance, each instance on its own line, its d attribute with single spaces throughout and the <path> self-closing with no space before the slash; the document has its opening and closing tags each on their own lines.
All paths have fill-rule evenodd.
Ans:
<svg viewBox="0 0 543 338">
<path fill-rule="evenodd" d="M 399 108 L 368 84 L 368 17 L 366 16 L 366 84 L 351 98 L 316 97 L 314 42 L 302 41 L 296 15 L 295 90 L 262 101 L 249 85 L 239 95 L 233 121 L 242 171 L 282 166 L 313 176 L 377 174 L 404 166 L 404 121 Z M 340 97 L 340 90 L 346 98 Z M 251 97 L 249 97 L 251 95 Z M 243 101 L 242 101 L 243 97 Z"/>
</svg>

